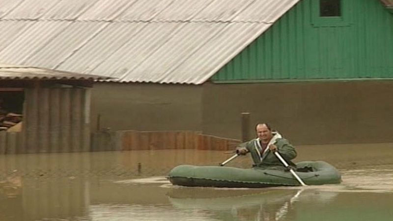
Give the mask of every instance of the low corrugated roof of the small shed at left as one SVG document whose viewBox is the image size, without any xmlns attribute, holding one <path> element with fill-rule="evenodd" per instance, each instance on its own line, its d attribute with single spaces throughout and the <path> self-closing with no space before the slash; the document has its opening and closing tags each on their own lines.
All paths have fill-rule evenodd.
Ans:
<svg viewBox="0 0 393 221">
<path fill-rule="evenodd" d="M 50 70 L 46 68 L 0 64 L 0 79 L 100 80 L 110 79 L 110 77 L 93 74 L 78 74 L 72 72 Z"/>
</svg>

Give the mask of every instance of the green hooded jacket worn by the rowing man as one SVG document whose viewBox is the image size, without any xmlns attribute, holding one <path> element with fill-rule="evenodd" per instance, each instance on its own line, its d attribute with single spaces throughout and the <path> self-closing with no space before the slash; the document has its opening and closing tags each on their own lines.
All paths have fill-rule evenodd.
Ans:
<svg viewBox="0 0 393 221">
<path fill-rule="evenodd" d="M 240 144 L 239 147 L 246 147 L 250 152 L 251 157 L 253 159 L 255 167 L 275 167 L 274 169 L 283 169 L 284 166 L 281 161 L 276 157 L 276 155 L 270 151 L 269 146 L 274 144 L 278 148 L 278 152 L 281 154 L 282 158 L 288 163 L 288 165 L 295 167 L 296 165 L 291 161 L 296 157 L 297 153 L 295 148 L 288 142 L 288 140 L 282 138 L 282 136 L 278 132 L 273 132 L 273 138 L 269 142 L 268 147 L 262 153 L 262 157 L 260 157 L 260 147 L 258 145 L 259 138 L 253 139 L 251 141 Z M 277 168 L 276 168 L 277 167 Z M 282 168 L 281 168 L 282 167 Z"/>
</svg>

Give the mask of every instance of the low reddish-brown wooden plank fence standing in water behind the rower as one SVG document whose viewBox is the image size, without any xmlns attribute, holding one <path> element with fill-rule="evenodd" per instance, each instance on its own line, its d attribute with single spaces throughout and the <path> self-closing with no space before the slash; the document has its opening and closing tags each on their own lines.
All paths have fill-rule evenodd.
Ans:
<svg viewBox="0 0 393 221">
<path fill-rule="evenodd" d="M 99 131 L 93 133 L 92 151 L 147 149 L 233 150 L 239 140 L 194 131 Z"/>
</svg>

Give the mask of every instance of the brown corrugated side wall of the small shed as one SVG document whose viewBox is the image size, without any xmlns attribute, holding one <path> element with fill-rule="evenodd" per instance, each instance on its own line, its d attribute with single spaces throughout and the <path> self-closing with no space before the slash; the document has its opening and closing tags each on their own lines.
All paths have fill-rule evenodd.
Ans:
<svg viewBox="0 0 393 221">
<path fill-rule="evenodd" d="M 24 140 L 18 152 L 88 151 L 89 108 L 89 89 L 25 89 Z"/>
</svg>

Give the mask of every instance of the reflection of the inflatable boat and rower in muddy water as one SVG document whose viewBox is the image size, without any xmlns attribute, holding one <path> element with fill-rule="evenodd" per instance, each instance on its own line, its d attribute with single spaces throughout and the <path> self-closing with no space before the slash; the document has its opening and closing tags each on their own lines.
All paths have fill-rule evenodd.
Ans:
<svg viewBox="0 0 393 221">
<path fill-rule="evenodd" d="M 170 203 L 177 209 L 204 211 L 217 220 L 239 221 L 291 220 L 297 217 L 297 201 L 320 205 L 336 196 L 334 192 L 312 189 L 173 188 L 168 192 Z"/>
</svg>

